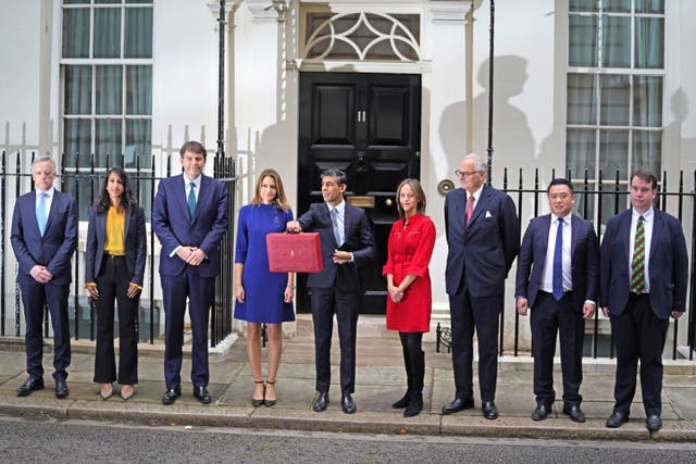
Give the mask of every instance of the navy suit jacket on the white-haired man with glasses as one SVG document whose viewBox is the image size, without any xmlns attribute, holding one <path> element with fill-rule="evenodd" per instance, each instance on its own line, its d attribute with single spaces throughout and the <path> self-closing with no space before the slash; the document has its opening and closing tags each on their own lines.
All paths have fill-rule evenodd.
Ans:
<svg viewBox="0 0 696 464">
<path fill-rule="evenodd" d="M 465 211 L 467 191 L 463 188 L 447 193 L 447 293 L 457 294 L 465 275 L 472 297 L 500 294 L 520 250 L 520 224 L 514 203 L 505 192 L 484 185 L 464 230 Z"/>
</svg>

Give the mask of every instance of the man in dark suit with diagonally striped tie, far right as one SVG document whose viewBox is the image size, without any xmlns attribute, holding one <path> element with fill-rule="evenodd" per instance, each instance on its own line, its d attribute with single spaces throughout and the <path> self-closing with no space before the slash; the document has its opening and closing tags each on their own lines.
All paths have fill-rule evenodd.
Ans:
<svg viewBox="0 0 696 464">
<path fill-rule="evenodd" d="M 657 176 L 631 175 L 631 205 L 607 223 L 601 241 L 600 304 L 617 347 L 614 406 L 607 427 L 629 421 L 641 360 L 646 428 L 662 426 L 662 350 L 670 315 L 686 310 L 688 258 L 682 226 L 657 210 Z"/>
</svg>

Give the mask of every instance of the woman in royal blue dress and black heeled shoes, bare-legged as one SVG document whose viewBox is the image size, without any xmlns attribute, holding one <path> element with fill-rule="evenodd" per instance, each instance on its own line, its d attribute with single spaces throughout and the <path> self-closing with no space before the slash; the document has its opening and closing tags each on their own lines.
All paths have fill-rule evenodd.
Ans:
<svg viewBox="0 0 696 464">
<path fill-rule="evenodd" d="M 275 170 L 259 176 L 254 196 L 239 210 L 235 255 L 235 318 L 247 322 L 247 355 L 253 374 L 251 404 L 272 406 L 276 402 L 275 376 L 283 350 L 282 323 L 295 321 L 293 273 L 272 273 L 265 236 L 285 230 L 293 211 L 283 180 Z M 261 373 L 261 325 L 266 324 L 269 373 Z"/>
</svg>

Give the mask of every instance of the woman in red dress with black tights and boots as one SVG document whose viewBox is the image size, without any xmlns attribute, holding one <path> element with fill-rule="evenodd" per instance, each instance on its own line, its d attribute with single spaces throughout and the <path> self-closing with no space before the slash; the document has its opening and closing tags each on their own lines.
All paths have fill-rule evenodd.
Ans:
<svg viewBox="0 0 696 464">
<path fill-rule="evenodd" d="M 399 220 L 389 233 L 387 263 L 387 329 L 398 330 L 403 349 L 408 390 L 391 407 L 405 407 L 412 417 L 423 410 L 425 353 L 423 333 L 430 331 L 432 311 L 431 276 L 427 265 L 435 247 L 435 225 L 425 216 L 425 193 L 415 179 L 406 179 L 396 191 Z"/>
</svg>

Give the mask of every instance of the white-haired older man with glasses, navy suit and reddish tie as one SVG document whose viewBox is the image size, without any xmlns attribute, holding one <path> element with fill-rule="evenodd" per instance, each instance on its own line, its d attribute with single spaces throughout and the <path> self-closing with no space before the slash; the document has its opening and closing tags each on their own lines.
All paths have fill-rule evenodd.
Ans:
<svg viewBox="0 0 696 464">
<path fill-rule="evenodd" d="M 452 414 L 474 406 L 473 335 L 478 340 L 478 384 L 483 415 L 498 417 L 498 325 L 505 279 L 520 249 L 520 224 L 512 199 L 484 185 L 486 165 L 477 154 L 459 163 L 461 188 L 445 198 L 447 269 L 445 280 L 452 324 L 455 400 Z"/>
</svg>

